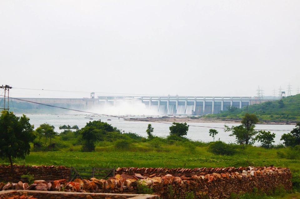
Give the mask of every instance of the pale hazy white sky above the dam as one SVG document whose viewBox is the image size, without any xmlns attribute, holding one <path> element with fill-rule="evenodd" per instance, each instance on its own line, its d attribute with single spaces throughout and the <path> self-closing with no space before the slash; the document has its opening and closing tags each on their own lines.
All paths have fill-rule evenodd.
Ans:
<svg viewBox="0 0 300 199">
<path fill-rule="evenodd" d="M 299 10 L 299 0 L 1 0 L 0 84 L 254 96 L 258 86 L 272 95 L 291 83 L 296 94 Z M 11 95 L 89 97 L 22 89 Z"/>
</svg>

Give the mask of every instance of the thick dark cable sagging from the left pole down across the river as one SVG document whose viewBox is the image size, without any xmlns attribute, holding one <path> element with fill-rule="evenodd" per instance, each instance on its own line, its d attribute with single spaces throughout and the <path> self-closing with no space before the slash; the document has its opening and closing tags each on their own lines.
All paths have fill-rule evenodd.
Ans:
<svg viewBox="0 0 300 199">
<path fill-rule="evenodd" d="M 2 95 L 0 95 L 0 96 L 2 96 Z M 78 112 L 90 113 L 90 114 L 102 115 L 102 116 L 108 116 L 108 117 L 118 117 L 118 116 L 114 116 L 114 115 L 106 115 L 106 114 L 94 113 L 94 112 L 89 112 L 89 111 L 81 111 L 81 110 L 76 110 L 76 109 L 71 109 L 71 108 L 58 107 L 58 106 L 53 106 L 53 105 L 49 105 L 49 104 L 43 104 L 43 103 L 39 103 L 39 102 L 32 102 L 32 101 L 29 101 L 29 100 L 18 99 L 18 98 L 15 98 L 15 97 L 10 97 L 10 98 L 11 98 L 11 99 L 15 99 L 15 100 L 20 100 L 20 101 L 23 101 L 23 102 L 30 102 L 30 103 L 40 104 L 40 105 L 44 105 L 44 106 L 48 106 L 48 107 L 55 107 L 55 108 L 66 109 L 66 110 L 70 110 L 70 111 L 78 111 Z M 156 122 L 156 123 L 162 123 L 162 124 L 172 125 L 172 123 L 170 123 L 170 122 L 160 122 L 160 121 L 151 121 L 151 120 L 141 120 L 141 119 L 137 119 L 137 118 L 128 118 L 128 117 L 120 117 L 120 118 L 123 118 L 123 119 L 130 119 L 130 120 L 136 120 L 136 121 Z M 189 126 L 202 127 L 202 128 L 226 129 L 226 128 L 224 128 L 224 127 L 214 127 L 214 126 L 197 126 L 197 125 L 189 125 Z M 264 130 L 264 129 L 260 129 L 260 130 Z M 275 130 L 275 129 L 267 129 L 267 130 Z M 288 130 L 288 131 L 289 131 L 289 130 Z"/>
</svg>

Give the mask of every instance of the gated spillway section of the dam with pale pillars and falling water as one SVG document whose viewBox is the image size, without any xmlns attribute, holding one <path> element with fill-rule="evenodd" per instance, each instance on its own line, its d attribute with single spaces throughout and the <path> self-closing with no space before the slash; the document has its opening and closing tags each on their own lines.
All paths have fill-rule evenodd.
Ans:
<svg viewBox="0 0 300 199">
<path fill-rule="evenodd" d="M 188 96 L 98 96 L 98 103 L 116 105 L 119 101 L 139 101 L 163 115 L 206 115 L 225 111 L 230 107 L 243 108 L 270 100 L 252 97 L 188 97 Z"/>
</svg>

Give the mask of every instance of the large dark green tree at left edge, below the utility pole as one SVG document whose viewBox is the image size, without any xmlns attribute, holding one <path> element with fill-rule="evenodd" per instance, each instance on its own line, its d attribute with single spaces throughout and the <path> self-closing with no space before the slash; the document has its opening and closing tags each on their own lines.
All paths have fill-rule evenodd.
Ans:
<svg viewBox="0 0 300 199">
<path fill-rule="evenodd" d="M 25 115 L 2 111 L 0 116 L 0 157 L 8 158 L 13 172 L 12 158 L 25 158 L 30 153 L 30 142 L 35 139 L 34 126 Z"/>
</svg>

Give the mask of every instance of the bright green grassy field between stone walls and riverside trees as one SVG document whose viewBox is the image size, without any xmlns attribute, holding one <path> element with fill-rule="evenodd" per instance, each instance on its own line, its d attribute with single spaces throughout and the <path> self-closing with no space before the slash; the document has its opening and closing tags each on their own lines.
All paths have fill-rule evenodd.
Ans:
<svg viewBox="0 0 300 199">
<path fill-rule="evenodd" d="M 76 146 L 78 149 L 79 146 Z M 277 152 L 288 149 L 264 149 L 248 146 L 232 156 L 214 155 L 207 147 L 195 150 L 183 146 L 166 145 L 161 149 L 151 148 L 148 143 L 136 143 L 132 147 L 117 150 L 114 146 L 96 147 L 96 152 L 48 151 L 31 152 L 26 158 L 16 159 L 17 164 L 64 165 L 64 166 L 116 166 L 116 167 L 227 167 L 227 166 L 269 166 L 289 167 L 293 172 L 300 171 L 299 159 L 278 158 Z M 0 163 L 8 163 L 1 160 Z"/>
</svg>

